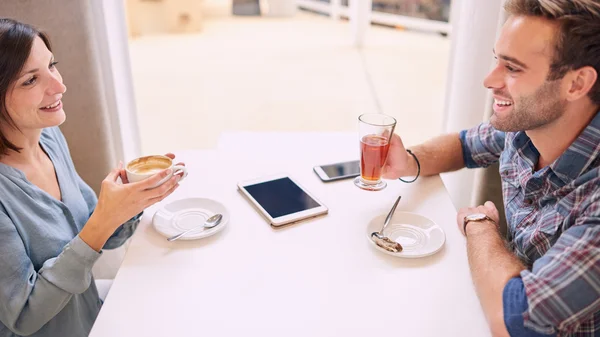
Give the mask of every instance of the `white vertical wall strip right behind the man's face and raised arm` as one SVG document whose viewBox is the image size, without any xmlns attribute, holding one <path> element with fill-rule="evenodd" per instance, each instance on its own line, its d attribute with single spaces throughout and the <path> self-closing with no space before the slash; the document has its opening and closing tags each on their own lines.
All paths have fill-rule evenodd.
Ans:
<svg viewBox="0 0 600 337">
<path fill-rule="evenodd" d="M 492 50 L 504 0 L 455 0 L 451 17 L 452 49 L 446 91 L 444 129 L 458 132 L 481 123 L 491 100 L 483 80 L 493 64 Z M 474 170 L 442 175 L 457 208 L 471 205 Z"/>
</svg>

